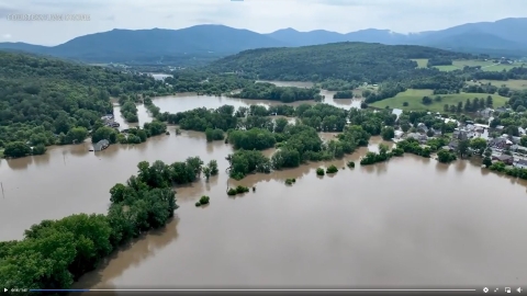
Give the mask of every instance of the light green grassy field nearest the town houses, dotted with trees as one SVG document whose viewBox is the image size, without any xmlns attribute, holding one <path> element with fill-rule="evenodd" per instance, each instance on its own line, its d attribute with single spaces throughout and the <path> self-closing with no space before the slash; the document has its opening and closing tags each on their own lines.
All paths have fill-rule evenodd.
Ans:
<svg viewBox="0 0 527 296">
<path fill-rule="evenodd" d="M 429 105 L 423 104 L 422 100 L 423 96 L 428 95 L 434 98 L 433 90 L 406 90 L 405 92 L 399 93 L 397 95 L 385 99 L 379 102 L 374 102 L 371 104 L 373 107 L 390 107 L 390 109 L 402 109 L 408 111 L 430 111 L 430 112 L 444 112 L 445 104 L 448 105 L 458 105 L 459 102 L 464 102 L 467 99 L 474 99 L 474 98 L 486 98 L 486 94 L 482 93 L 455 93 L 455 94 L 442 94 L 442 100 L 440 102 L 434 101 Z M 501 96 L 497 94 L 492 94 L 492 99 L 494 101 L 494 107 L 505 105 L 507 102 L 507 98 Z M 407 102 L 407 106 L 403 106 L 403 103 Z"/>
</svg>

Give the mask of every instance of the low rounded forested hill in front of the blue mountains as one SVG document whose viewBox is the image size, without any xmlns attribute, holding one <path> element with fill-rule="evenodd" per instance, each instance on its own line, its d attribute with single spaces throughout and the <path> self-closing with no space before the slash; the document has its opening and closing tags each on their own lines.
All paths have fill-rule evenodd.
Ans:
<svg viewBox="0 0 527 296">
<path fill-rule="evenodd" d="M 439 71 L 433 68 L 416 71 L 417 62 L 410 59 L 464 57 L 470 55 L 423 46 L 348 42 L 245 50 L 213 61 L 209 69 L 216 72 L 236 71 L 264 80 L 318 82 L 341 79 L 380 83 L 411 80 Z"/>
</svg>

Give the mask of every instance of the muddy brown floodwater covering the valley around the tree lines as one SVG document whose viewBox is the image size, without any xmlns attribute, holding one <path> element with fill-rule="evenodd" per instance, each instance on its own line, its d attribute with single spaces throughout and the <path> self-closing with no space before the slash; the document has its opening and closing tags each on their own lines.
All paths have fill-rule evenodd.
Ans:
<svg viewBox="0 0 527 296">
<path fill-rule="evenodd" d="M 191 105 L 191 99 L 179 99 L 155 103 L 169 112 L 214 107 L 214 100 L 231 103 L 197 96 Z M 318 166 L 357 161 L 367 151 L 362 148 L 345 160 L 236 182 L 224 173 L 229 145 L 208 144 L 200 133 L 176 136 L 173 127 L 169 130 L 170 136 L 98 153 L 88 152 L 85 144 L 1 160 L 0 240 L 20 239 L 42 219 L 105 213 L 110 187 L 135 173 L 142 160 L 200 156 L 205 162 L 218 160 L 220 175 L 177 189 L 180 208 L 173 221 L 114 254 L 77 287 L 483 287 L 527 282 L 523 181 L 468 161 L 448 166 L 412 155 L 316 177 Z M 373 138 L 369 148 L 375 150 L 379 143 Z M 296 183 L 287 186 L 287 178 Z M 256 185 L 257 191 L 228 197 L 227 183 Z M 203 194 L 211 204 L 197 208 Z"/>
</svg>

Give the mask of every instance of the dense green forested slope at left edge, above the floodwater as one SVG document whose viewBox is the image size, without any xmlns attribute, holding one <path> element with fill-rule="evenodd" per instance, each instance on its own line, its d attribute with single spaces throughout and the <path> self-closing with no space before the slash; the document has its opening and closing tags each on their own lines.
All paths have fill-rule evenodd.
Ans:
<svg viewBox="0 0 527 296">
<path fill-rule="evenodd" d="M 0 52 L 0 148 L 25 155 L 82 141 L 112 113 L 110 96 L 171 91 L 146 75 L 25 54 Z"/>
</svg>

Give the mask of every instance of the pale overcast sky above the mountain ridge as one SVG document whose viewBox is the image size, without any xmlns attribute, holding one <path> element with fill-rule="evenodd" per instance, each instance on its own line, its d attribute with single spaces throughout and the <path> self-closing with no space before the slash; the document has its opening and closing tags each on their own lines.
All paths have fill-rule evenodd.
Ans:
<svg viewBox="0 0 527 296">
<path fill-rule="evenodd" d="M 8 21 L 16 13 L 88 14 L 90 21 Z M 269 33 L 293 27 L 348 33 L 441 30 L 527 16 L 527 0 L 0 0 L 0 42 L 56 45 L 112 29 L 182 29 L 224 24 Z"/>
</svg>

